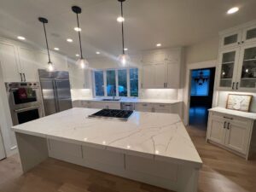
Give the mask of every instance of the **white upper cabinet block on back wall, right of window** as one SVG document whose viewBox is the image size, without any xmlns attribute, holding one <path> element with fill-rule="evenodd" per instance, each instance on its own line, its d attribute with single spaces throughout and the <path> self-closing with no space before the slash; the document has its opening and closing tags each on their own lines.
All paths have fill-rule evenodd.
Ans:
<svg viewBox="0 0 256 192">
<path fill-rule="evenodd" d="M 182 49 L 162 49 L 143 55 L 143 89 L 178 89 Z"/>
</svg>

